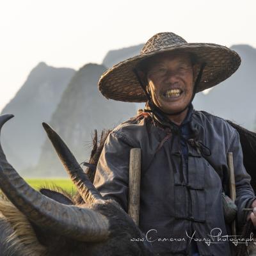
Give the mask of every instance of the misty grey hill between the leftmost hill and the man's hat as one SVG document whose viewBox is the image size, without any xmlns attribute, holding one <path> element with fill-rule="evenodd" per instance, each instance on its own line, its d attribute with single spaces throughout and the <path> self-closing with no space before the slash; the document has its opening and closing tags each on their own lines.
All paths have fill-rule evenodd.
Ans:
<svg viewBox="0 0 256 256">
<path fill-rule="evenodd" d="M 100 94 L 97 83 L 105 70 L 103 65 L 92 63 L 80 68 L 51 118 L 52 128 L 66 141 L 79 163 L 89 158 L 94 129 L 113 128 L 136 114 L 134 104 L 107 100 Z M 35 172 L 26 170 L 26 175 L 66 175 L 48 139 Z"/>
</svg>

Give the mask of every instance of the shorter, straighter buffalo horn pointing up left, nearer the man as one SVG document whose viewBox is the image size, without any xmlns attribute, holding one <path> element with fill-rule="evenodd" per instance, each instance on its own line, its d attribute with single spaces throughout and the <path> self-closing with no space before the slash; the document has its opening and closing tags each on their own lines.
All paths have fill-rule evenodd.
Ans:
<svg viewBox="0 0 256 256">
<path fill-rule="evenodd" d="M 43 123 L 45 132 L 51 140 L 53 147 L 55 148 L 58 156 L 60 157 L 61 163 L 67 170 L 68 175 L 77 187 L 77 190 L 84 202 L 94 203 L 99 200 L 103 200 L 102 195 L 92 184 L 87 174 L 83 171 L 79 163 L 77 163 L 76 158 L 70 152 L 69 148 L 65 142 L 60 138 L 60 136 L 55 132 L 50 125 Z"/>
</svg>

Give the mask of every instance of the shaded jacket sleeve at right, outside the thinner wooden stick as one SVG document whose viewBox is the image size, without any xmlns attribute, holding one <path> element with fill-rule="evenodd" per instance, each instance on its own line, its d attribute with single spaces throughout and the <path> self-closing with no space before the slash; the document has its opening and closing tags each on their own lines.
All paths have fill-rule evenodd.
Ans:
<svg viewBox="0 0 256 256">
<path fill-rule="evenodd" d="M 228 152 L 233 153 L 236 182 L 236 205 L 238 210 L 237 225 L 239 228 L 241 228 L 243 227 L 248 215 L 248 212 L 243 211 L 243 208 L 250 207 L 256 197 L 252 186 L 250 185 L 251 177 L 244 168 L 243 152 L 239 133 L 237 131 L 234 131 Z"/>
</svg>

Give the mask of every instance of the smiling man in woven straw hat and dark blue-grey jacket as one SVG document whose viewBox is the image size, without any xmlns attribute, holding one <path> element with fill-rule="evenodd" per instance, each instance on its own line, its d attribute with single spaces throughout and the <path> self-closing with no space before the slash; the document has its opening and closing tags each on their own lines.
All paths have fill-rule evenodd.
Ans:
<svg viewBox="0 0 256 256">
<path fill-rule="evenodd" d="M 234 156 L 238 227 L 246 221 L 243 208 L 256 206 L 237 131 L 191 104 L 196 92 L 227 79 L 240 62 L 227 47 L 158 33 L 139 56 L 100 78 L 100 92 L 108 99 L 147 104 L 109 134 L 94 184 L 127 211 L 129 151 L 141 148 L 139 226 L 157 255 L 231 255 L 221 238 L 230 232 L 221 201 L 227 193 L 227 152 Z"/>
</svg>

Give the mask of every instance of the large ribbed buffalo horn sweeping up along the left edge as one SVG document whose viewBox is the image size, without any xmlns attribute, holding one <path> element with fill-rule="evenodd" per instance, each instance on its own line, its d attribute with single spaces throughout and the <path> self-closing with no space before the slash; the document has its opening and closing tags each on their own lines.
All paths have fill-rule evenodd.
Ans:
<svg viewBox="0 0 256 256">
<path fill-rule="evenodd" d="M 0 116 L 0 132 L 12 115 Z M 74 205 L 60 204 L 31 188 L 6 161 L 0 143 L 0 188 L 27 218 L 39 227 L 80 241 L 102 241 L 109 235 L 109 221 L 102 214 Z"/>
</svg>

